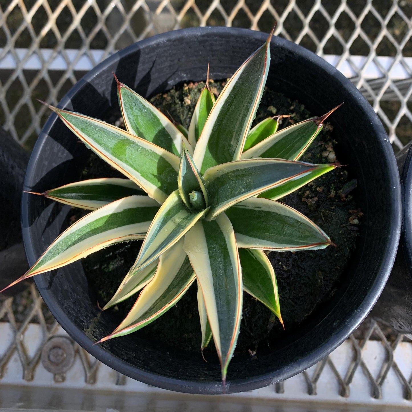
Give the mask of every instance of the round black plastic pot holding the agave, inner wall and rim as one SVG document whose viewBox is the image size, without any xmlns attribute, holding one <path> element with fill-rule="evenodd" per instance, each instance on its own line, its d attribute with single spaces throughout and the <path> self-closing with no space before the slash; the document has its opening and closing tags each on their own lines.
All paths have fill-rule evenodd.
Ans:
<svg viewBox="0 0 412 412">
<path fill-rule="evenodd" d="M 91 70 L 60 102 L 60 107 L 102 118 L 117 105 L 112 71 L 143 96 L 166 91 L 187 80 L 225 79 L 267 35 L 235 28 L 192 28 L 143 40 Z M 375 304 L 391 271 L 401 222 L 400 183 L 392 148 L 375 112 L 358 90 L 313 53 L 281 38 L 271 43 L 267 86 L 298 99 L 314 114 L 333 113 L 338 157 L 358 179 L 362 221 L 356 251 L 334 298 L 311 316 L 295 335 L 267 356 L 235 356 L 226 391 L 259 388 L 291 377 L 333 351 L 361 323 Z M 88 156 L 84 145 L 51 115 L 37 140 L 25 189 L 36 192 L 77 180 Z M 23 195 L 22 225 L 31 264 L 65 225 L 68 208 Z M 92 346 L 119 322 L 91 300 L 82 264 L 36 276 L 36 285 L 56 319 L 76 342 L 123 374 L 181 392 L 222 393 L 220 368 L 187 353 L 131 334 Z"/>
</svg>

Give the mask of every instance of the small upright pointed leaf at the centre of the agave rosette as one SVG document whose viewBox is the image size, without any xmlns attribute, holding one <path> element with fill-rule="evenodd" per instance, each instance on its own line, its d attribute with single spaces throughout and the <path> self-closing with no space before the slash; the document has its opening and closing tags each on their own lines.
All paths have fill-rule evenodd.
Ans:
<svg viewBox="0 0 412 412">
<path fill-rule="evenodd" d="M 203 179 L 186 148 L 183 149 L 182 160 L 180 161 L 178 187 L 180 197 L 189 209 L 193 208 L 189 197 L 189 193 L 193 190 L 201 192 L 203 194 L 206 206 L 208 205 L 208 197 Z"/>
</svg>

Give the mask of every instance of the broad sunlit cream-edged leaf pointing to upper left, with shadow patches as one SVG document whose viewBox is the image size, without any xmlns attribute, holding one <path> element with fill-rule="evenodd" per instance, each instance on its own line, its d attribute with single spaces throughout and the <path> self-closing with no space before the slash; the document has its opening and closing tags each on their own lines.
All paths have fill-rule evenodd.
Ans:
<svg viewBox="0 0 412 412">
<path fill-rule="evenodd" d="M 91 150 L 160 204 L 177 189 L 180 159 L 176 155 L 100 120 L 49 107 Z"/>
</svg>

